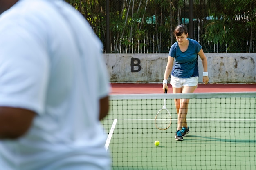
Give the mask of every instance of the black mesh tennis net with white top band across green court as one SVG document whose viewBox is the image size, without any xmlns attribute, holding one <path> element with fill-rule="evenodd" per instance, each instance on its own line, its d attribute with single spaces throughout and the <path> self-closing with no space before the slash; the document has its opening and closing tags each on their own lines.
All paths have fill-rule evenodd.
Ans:
<svg viewBox="0 0 256 170">
<path fill-rule="evenodd" d="M 105 148 L 113 170 L 255 170 L 256 92 L 109 95 Z M 167 130 L 155 127 L 164 98 Z M 176 141 L 174 99 L 190 99 L 190 133 Z M 154 141 L 160 141 L 159 146 Z"/>
</svg>

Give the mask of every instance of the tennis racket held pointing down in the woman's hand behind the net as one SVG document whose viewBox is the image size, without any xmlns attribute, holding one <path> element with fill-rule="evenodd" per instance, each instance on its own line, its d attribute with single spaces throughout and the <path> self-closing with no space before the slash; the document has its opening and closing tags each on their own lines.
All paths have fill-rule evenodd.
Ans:
<svg viewBox="0 0 256 170">
<path fill-rule="evenodd" d="M 167 89 L 165 89 L 164 93 L 167 93 Z M 164 99 L 164 106 L 155 116 L 155 126 L 160 130 L 166 130 L 171 126 L 171 114 L 166 108 L 166 99 Z"/>
</svg>

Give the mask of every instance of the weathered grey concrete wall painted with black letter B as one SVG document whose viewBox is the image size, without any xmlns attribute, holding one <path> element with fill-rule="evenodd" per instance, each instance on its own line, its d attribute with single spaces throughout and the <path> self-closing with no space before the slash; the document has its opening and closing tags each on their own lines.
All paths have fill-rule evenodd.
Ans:
<svg viewBox="0 0 256 170">
<path fill-rule="evenodd" d="M 209 83 L 256 83 L 256 53 L 206 53 Z M 104 54 L 110 82 L 162 82 L 168 54 Z M 202 61 L 198 56 L 199 83 Z M 168 80 L 169 81 L 169 80 Z"/>
</svg>

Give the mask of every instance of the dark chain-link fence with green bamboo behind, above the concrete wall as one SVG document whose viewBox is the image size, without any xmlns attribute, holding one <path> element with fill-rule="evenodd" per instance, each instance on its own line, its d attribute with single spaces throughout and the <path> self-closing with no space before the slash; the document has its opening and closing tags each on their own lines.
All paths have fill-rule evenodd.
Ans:
<svg viewBox="0 0 256 170">
<path fill-rule="evenodd" d="M 205 53 L 256 53 L 256 0 L 66 0 L 105 53 L 168 53 L 185 24 Z"/>
</svg>

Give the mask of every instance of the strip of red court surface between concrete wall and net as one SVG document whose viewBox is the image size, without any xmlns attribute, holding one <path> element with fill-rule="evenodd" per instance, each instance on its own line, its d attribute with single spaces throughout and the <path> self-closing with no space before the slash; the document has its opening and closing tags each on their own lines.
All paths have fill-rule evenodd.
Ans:
<svg viewBox="0 0 256 170">
<path fill-rule="evenodd" d="M 171 85 L 168 86 L 168 93 L 173 93 Z M 160 83 L 112 83 L 111 87 L 110 94 L 115 95 L 163 93 Z M 256 92 L 256 84 L 198 84 L 194 93 L 213 92 Z"/>
</svg>

